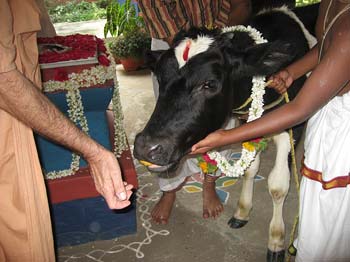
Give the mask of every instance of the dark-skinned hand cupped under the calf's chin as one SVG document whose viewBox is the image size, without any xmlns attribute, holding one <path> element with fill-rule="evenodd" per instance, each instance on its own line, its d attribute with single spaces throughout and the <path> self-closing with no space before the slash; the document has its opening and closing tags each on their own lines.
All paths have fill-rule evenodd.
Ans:
<svg viewBox="0 0 350 262">
<path fill-rule="evenodd" d="M 226 130 L 219 129 L 209 134 L 206 138 L 199 141 L 197 144 L 192 146 L 191 155 L 203 154 L 213 148 L 225 145 L 223 138 L 225 137 Z"/>
</svg>

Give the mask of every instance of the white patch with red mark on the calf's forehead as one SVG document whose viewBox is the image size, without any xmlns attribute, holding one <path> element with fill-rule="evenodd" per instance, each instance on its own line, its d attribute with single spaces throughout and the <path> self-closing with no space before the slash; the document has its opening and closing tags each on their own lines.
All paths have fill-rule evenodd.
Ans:
<svg viewBox="0 0 350 262">
<path fill-rule="evenodd" d="M 175 57 L 179 63 L 179 68 L 183 67 L 191 57 L 207 51 L 213 42 L 214 39 L 206 35 L 199 35 L 196 39 L 185 38 L 182 40 L 181 43 L 175 47 Z M 184 60 L 183 54 L 186 48 L 189 48 L 188 59 Z"/>
</svg>

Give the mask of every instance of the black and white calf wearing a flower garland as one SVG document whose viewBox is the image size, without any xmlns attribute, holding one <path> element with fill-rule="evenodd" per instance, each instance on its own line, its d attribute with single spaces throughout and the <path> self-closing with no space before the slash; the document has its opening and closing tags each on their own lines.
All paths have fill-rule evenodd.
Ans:
<svg viewBox="0 0 350 262">
<path fill-rule="evenodd" d="M 135 140 L 134 155 L 155 164 L 153 171 L 174 169 L 191 146 L 223 126 L 251 95 L 252 77 L 269 76 L 310 48 L 305 27 L 285 7 L 266 10 L 249 23 L 268 40 L 256 44 L 247 32 L 190 29 L 181 32 L 173 47 L 152 52 L 151 69 L 159 81 L 159 98 L 144 130 Z M 190 43 L 190 44 L 188 44 Z M 293 99 L 305 77 L 289 89 Z M 267 88 L 265 104 L 273 104 L 279 94 Z M 273 199 L 268 259 L 283 260 L 283 202 L 289 189 L 290 152 L 287 132 L 273 137 L 276 163 L 269 174 L 268 187 Z M 259 155 L 243 177 L 238 207 L 229 224 L 243 226 L 252 208 L 253 178 L 258 171 Z M 152 167 L 151 167 L 152 169 Z M 246 191 L 246 192 L 243 192 Z"/>
</svg>

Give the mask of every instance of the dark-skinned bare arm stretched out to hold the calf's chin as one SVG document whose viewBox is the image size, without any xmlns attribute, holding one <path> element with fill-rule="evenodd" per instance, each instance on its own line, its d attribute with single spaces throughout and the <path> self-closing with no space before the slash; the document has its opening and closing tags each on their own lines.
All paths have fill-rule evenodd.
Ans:
<svg viewBox="0 0 350 262">
<path fill-rule="evenodd" d="M 347 19 L 347 20 L 346 20 Z M 308 119 L 337 94 L 345 90 L 350 62 L 349 15 L 334 25 L 331 43 L 322 61 L 312 71 L 297 97 L 263 117 L 231 130 L 218 130 L 192 147 L 192 154 L 216 147 L 280 132 Z M 347 90 L 348 91 L 348 90 Z M 339 93 L 341 92 L 341 93 Z"/>
</svg>

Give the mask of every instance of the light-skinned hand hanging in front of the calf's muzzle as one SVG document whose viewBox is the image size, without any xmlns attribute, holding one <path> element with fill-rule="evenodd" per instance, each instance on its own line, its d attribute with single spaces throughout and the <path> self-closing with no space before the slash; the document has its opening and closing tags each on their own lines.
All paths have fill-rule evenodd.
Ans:
<svg viewBox="0 0 350 262">
<path fill-rule="evenodd" d="M 120 166 L 114 154 L 101 150 L 87 159 L 96 190 L 105 198 L 110 209 L 122 209 L 130 205 L 132 185 L 123 182 Z"/>
</svg>

